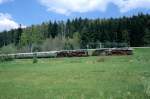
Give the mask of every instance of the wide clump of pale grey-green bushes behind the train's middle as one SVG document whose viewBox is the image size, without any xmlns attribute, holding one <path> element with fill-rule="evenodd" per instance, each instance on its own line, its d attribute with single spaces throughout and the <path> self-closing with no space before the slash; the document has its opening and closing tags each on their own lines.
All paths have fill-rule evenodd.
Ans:
<svg viewBox="0 0 150 99">
<path fill-rule="evenodd" d="M 43 51 L 80 49 L 80 39 L 77 33 L 73 35 L 73 38 L 58 35 L 55 38 L 45 40 L 41 48 Z"/>
</svg>

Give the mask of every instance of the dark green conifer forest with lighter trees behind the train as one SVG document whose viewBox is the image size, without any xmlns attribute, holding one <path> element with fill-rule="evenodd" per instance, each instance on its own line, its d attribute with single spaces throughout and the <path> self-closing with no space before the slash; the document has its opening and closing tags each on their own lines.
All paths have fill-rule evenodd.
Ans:
<svg viewBox="0 0 150 99">
<path fill-rule="evenodd" d="M 0 33 L 0 47 L 14 44 L 22 50 L 86 48 L 87 44 L 96 42 L 148 46 L 150 15 L 140 13 L 137 16 L 110 19 L 49 21 Z"/>
</svg>

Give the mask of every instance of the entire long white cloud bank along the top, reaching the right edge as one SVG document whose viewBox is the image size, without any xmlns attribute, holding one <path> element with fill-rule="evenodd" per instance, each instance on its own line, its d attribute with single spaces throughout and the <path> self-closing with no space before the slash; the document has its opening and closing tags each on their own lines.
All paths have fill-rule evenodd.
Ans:
<svg viewBox="0 0 150 99">
<path fill-rule="evenodd" d="M 150 0 L 39 0 L 48 11 L 69 15 L 74 12 L 106 11 L 110 3 L 115 4 L 120 12 L 136 8 L 150 9 Z"/>
</svg>

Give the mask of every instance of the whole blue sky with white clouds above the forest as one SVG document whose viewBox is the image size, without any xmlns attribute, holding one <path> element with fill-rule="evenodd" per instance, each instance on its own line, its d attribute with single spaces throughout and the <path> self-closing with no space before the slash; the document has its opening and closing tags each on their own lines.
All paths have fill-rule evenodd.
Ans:
<svg viewBox="0 0 150 99">
<path fill-rule="evenodd" d="M 49 20 L 150 14 L 150 0 L 0 0 L 0 31 Z"/>
</svg>

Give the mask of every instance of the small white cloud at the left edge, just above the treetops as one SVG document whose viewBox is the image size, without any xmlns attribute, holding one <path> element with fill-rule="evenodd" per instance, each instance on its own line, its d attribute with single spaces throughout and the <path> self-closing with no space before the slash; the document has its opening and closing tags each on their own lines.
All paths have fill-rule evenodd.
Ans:
<svg viewBox="0 0 150 99">
<path fill-rule="evenodd" d="M 16 29 L 18 27 L 19 24 L 12 19 L 10 14 L 0 13 L 0 31 Z"/>
</svg>

